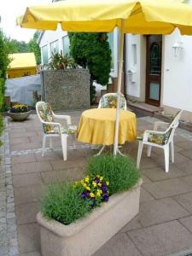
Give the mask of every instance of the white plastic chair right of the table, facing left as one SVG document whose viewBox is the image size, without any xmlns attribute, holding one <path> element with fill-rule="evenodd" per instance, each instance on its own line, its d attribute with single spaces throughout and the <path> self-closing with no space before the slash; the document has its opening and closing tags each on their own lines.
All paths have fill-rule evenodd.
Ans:
<svg viewBox="0 0 192 256">
<path fill-rule="evenodd" d="M 172 163 L 174 163 L 174 143 L 173 137 L 175 130 L 179 124 L 179 119 L 181 117 L 183 110 L 177 113 L 176 117 L 171 123 L 165 122 L 155 122 L 153 131 L 144 131 L 142 137 L 137 137 L 139 140 L 138 153 L 137 153 L 137 168 L 140 166 L 140 161 L 142 157 L 143 145 L 148 145 L 148 157 L 151 155 L 152 147 L 163 148 L 165 154 L 165 165 L 166 172 L 169 172 L 169 146 L 171 144 L 172 152 Z M 159 127 L 166 127 L 166 131 L 157 131 Z"/>
</svg>

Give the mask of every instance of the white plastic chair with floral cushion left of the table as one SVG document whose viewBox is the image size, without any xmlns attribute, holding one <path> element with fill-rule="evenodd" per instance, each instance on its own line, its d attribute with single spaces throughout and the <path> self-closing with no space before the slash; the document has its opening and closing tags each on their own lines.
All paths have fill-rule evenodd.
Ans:
<svg viewBox="0 0 192 256">
<path fill-rule="evenodd" d="M 74 134 L 77 130 L 76 125 L 71 125 L 71 117 L 69 115 L 55 114 L 47 102 L 37 102 L 36 111 L 44 131 L 42 156 L 44 156 L 46 138 L 49 137 L 49 148 L 52 148 L 51 138 L 61 137 L 63 160 L 67 160 L 67 137 L 69 133 Z M 55 123 L 55 119 L 66 119 L 67 125 L 62 126 L 60 123 Z"/>
</svg>

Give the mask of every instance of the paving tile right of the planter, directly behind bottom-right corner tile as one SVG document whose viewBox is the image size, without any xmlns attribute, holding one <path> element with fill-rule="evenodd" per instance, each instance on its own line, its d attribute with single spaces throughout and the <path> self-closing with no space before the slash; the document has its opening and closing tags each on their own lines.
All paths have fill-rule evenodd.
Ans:
<svg viewBox="0 0 192 256">
<path fill-rule="evenodd" d="M 139 221 L 143 227 L 160 224 L 177 218 L 189 216 L 183 207 L 172 198 L 146 201 L 141 203 Z"/>
</svg>

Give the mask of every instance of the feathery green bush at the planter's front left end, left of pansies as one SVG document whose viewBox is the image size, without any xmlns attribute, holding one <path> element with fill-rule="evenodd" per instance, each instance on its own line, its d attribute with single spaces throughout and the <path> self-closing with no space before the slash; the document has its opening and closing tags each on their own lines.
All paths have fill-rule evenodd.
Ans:
<svg viewBox="0 0 192 256">
<path fill-rule="evenodd" d="M 42 196 L 40 209 L 45 218 L 53 218 L 61 224 L 71 224 L 78 218 L 83 218 L 90 207 L 80 197 L 79 187 L 68 183 L 49 185 Z"/>
</svg>

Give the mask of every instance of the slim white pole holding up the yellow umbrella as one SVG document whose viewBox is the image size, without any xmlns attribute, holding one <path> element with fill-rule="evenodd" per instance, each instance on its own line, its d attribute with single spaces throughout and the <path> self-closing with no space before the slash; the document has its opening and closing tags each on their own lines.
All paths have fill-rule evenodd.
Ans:
<svg viewBox="0 0 192 256">
<path fill-rule="evenodd" d="M 119 67 L 118 67 L 118 89 L 117 89 L 117 108 L 116 108 L 116 122 L 115 122 L 115 136 L 113 154 L 118 154 L 118 138 L 119 138 L 119 109 L 120 109 L 120 91 L 123 69 L 123 49 L 124 49 L 124 32 L 120 29 L 120 45 L 119 45 Z"/>
</svg>

